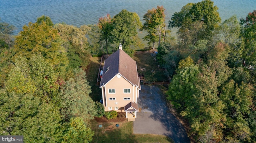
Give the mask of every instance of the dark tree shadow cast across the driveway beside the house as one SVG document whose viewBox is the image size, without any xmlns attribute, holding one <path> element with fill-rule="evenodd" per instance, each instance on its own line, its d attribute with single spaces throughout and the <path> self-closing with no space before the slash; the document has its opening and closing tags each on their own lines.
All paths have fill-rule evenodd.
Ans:
<svg viewBox="0 0 256 143">
<path fill-rule="evenodd" d="M 162 123 L 166 129 L 163 135 L 170 137 L 175 143 L 190 143 L 184 127 L 170 112 L 166 97 L 160 92 L 158 86 L 142 85 L 140 98 L 138 98 L 139 107 L 142 108 L 141 112 L 152 113 L 149 117 Z"/>
</svg>

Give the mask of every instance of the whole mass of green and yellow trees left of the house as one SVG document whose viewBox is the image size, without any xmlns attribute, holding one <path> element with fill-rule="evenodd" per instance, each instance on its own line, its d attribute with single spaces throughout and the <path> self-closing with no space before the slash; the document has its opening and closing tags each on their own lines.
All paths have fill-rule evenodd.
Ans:
<svg viewBox="0 0 256 143">
<path fill-rule="evenodd" d="M 48 16 L 41 16 L 23 27 L 13 50 L 0 47 L 3 135 L 24 135 L 25 142 L 38 143 L 92 141 L 94 132 L 86 125 L 97 110 L 85 72 L 76 69 L 88 64 L 85 35 L 91 28 L 66 27 L 58 31 Z"/>
</svg>

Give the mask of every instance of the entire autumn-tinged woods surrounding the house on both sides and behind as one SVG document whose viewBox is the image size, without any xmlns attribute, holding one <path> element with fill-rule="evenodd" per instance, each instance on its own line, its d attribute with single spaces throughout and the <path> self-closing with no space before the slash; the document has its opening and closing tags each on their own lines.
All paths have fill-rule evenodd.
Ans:
<svg viewBox="0 0 256 143">
<path fill-rule="evenodd" d="M 84 70 L 91 56 L 111 54 L 119 43 L 130 56 L 143 49 L 139 29 L 172 77 L 167 100 L 188 121 L 192 141 L 256 142 L 256 10 L 222 22 L 218 7 L 203 0 L 175 12 L 168 26 L 164 10 L 148 10 L 143 24 L 127 10 L 80 27 L 41 16 L 18 35 L 0 22 L 0 134 L 91 142 L 90 120 L 104 111 Z"/>
</svg>

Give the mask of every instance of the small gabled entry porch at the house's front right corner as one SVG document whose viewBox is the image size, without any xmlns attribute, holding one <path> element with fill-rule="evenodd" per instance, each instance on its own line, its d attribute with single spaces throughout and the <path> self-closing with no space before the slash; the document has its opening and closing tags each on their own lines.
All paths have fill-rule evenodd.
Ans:
<svg viewBox="0 0 256 143">
<path fill-rule="evenodd" d="M 135 121 L 135 118 L 137 118 L 137 112 L 139 111 L 138 109 L 138 104 L 134 102 L 130 102 L 124 106 L 124 112 L 126 112 L 126 118 L 128 121 Z"/>
</svg>

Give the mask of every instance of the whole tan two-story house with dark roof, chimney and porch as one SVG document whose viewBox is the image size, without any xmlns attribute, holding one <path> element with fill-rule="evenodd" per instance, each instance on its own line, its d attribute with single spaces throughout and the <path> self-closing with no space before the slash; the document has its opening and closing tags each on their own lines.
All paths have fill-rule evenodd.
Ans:
<svg viewBox="0 0 256 143">
<path fill-rule="evenodd" d="M 121 44 L 104 62 L 100 88 L 105 111 L 126 112 L 128 120 L 136 118 L 141 89 L 137 64 L 122 50 Z"/>
</svg>

